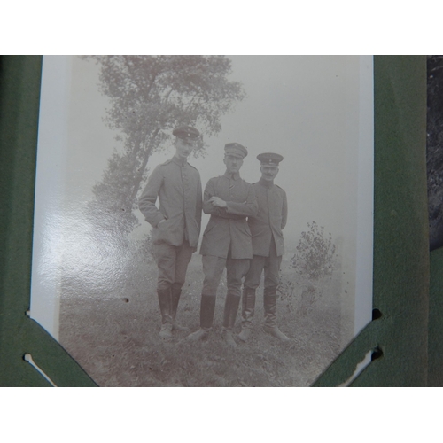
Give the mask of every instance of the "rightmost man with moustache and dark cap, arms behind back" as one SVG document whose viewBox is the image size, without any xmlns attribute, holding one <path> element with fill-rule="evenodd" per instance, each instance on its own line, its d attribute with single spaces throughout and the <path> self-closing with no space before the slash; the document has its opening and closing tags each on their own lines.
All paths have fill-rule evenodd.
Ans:
<svg viewBox="0 0 443 443">
<path fill-rule="evenodd" d="M 274 184 L 278 174 L 278 164 L 283 160 L 279 154 L 265 152 L 259 154 L 261 178 L 253 184 L 259 204 L 256 215 L 248 218 L 253 235 L 253 260 L 245 276 L 242 298 L 242 331 L 238 335 L 243 341 L 251 336 L 255 308 L 255 291 L 259 287 L 261 272 L 265 271 L 263 304 L 265 325 L 263 330 L 280 339 L 289 341 L 276 325 L 276 288 L 280 264 L 284 254 L 282 229 L 286 225 L 288 205 L 286 193 Z"/>
</svg>

